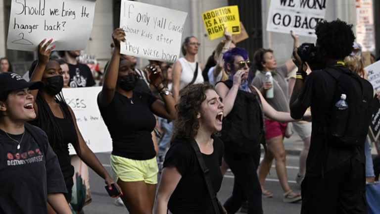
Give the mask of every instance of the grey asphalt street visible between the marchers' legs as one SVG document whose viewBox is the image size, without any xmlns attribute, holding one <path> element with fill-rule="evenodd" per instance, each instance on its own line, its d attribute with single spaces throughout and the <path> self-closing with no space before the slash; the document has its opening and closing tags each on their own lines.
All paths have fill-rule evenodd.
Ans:
<svg viewBox="0 0 380 214">
<path fill-rule="evenodd" d="M 96 154 L 105 168 L 110 171 L 109 154 Z M 289 185 L 294 192 L 299 192 L 300 188 L 295 183 L 295 177 L 298 172 L 298 156 L 286 157 L 286 168 Z M 222 183 L 221 190 L 218 193 L 220 201 L 224 202 L 230 197 L 234 184 L 234 175 L 227 172 Z M 110 198 L 105 189 L 104 181 L 90 169 L 90 188 L 92 192 L 92 202 L 84 208 L 86 214 L 122 214 L 128 213 L 125 207 L 114 205 L 114 199 Z M 299 214 L 301 209 L 300 202 L 294 204 L 284 203 L 283 190 L 276 175 L 274 165 L 267 177 L 265 188 L 273 193 L 273 198 L 263 198 L 263 210 L 265 214 Z"/>
</svg>

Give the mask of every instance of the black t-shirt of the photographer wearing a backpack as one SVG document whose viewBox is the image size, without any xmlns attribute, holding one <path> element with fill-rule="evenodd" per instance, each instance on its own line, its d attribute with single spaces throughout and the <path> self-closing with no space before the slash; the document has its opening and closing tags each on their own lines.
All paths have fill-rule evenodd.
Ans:
<svg viewBox="0 0 380 214">
<path fill-rule="evenodd" d="M 315 70 L 306 78 L 298 100 L 304 107 L 311 106 L 311 144 L 306 160 L 306 175 L 317 176 L 328 172 L 355 157 L 365 163 L 364 144 L 362 147 L 345 147 L 328 140 L 326 129 L 331 117 L 336 80 L 324 70 Z"/>
</svg>

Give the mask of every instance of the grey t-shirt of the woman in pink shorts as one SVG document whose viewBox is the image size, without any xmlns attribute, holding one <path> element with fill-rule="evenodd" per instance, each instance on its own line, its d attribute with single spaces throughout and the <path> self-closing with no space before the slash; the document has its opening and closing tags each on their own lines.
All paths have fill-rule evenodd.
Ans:
<svg viewBox="0 0 380 214">
<path fill-rule="evenodd" d="M 285 81 L 285 77 L 287 75 L 286 65 L 282 65 L 277 67 L 274 72 L 276 75 L 273 76 L 273 95 L 274 98 L 266 98 L 265 93 L 263 97 L 271 105 L 278 111 L 289 112 L 289 98 L 287 96 L 287 83 Z M 252 85 L 256 88 L 260 89 L 263 87 L 265 82 L 265 72 L 259 72 L 252 80 Z"/>
</svg>

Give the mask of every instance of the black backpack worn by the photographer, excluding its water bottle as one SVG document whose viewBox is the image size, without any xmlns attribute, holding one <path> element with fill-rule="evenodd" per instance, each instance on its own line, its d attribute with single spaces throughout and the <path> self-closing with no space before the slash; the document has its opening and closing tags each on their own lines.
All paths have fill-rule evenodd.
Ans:
<svg viewBox="0 0 380 214">
<path fill-rule="evenodd" d="M 334 137 L 329 135 L 331 142 L 347 146 L 364 145 L 372 118 L 374 89 L 371 83 L 341 65 L 327 67 L 325 71 L 337 82 L 328 130 L 332 130 L 336 125 L 345 125 L 345 131 L 342 136 Z M 333 120 L 337 114 L 335 103 L 340 100 L 341 94 L 345 94 L 347 97 L 348 113 L 346 114 L 347 118 L 344 118 L 347 123 L 334 124 Z"/>
</svg>

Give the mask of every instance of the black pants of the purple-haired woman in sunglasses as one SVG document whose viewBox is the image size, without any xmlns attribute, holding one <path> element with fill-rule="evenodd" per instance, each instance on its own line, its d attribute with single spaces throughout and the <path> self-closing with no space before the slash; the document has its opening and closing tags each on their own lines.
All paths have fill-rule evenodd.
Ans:
<svg viewBox="0 0 380 214">
<path fill-rule="evenodd" d="M 257 176 L 261 151 L 249 154 L 233 153 L 225 150 L 224 160 L 235 175 L 232 196 L 224 203 L 229 214 L 236 213 L 241 204 L 248 201 L 248 214 L 262 214 L 261 186 Z"/>
</svg>

